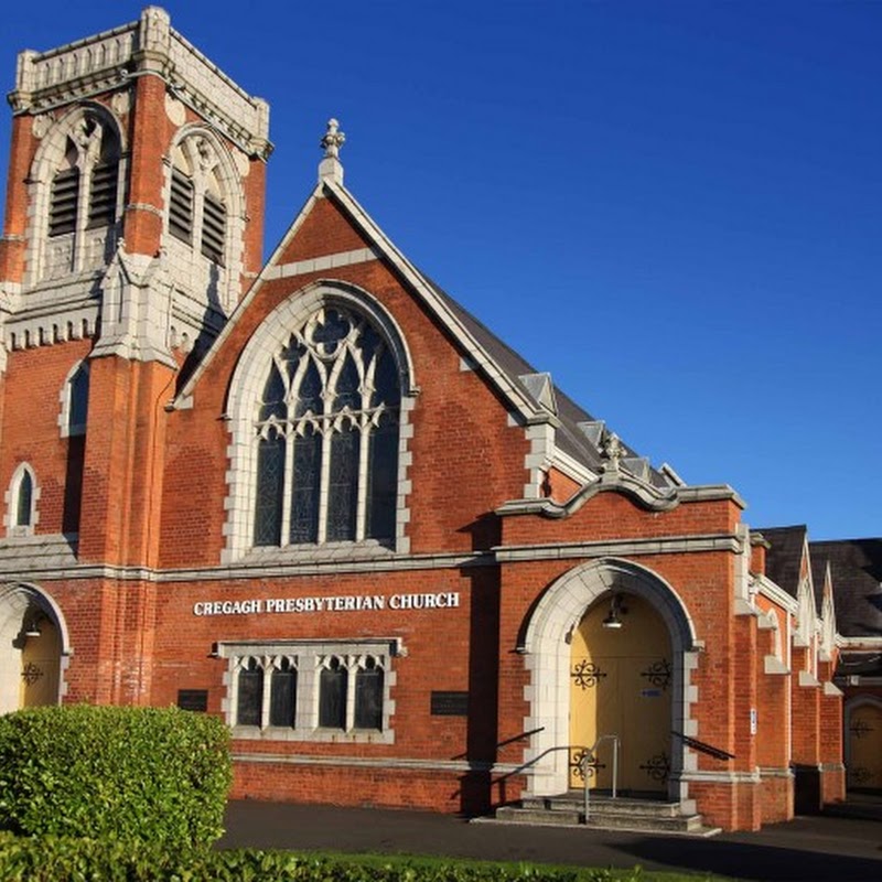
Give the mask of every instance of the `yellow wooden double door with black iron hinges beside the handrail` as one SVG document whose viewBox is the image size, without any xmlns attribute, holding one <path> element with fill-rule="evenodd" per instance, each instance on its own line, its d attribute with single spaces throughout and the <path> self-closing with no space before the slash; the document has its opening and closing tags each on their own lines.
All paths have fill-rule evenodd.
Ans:
<svg viewBox="0 0 882 882">
<path fill-rule="evenodd" d="M 671 656 L 667 627 L 635 594 L 619 594 L 621 627 L 604 627 L 611 600 L 594 604 L 573 632 L 570 664 L 570 744 L 590 747 L 619 735 L 620 790 L 665 793 L 670 767 Z M 570 786 L 584 786 L 581 754 L 571 754 Z M 591 760 L 589 786 L 612 787 L 613 745 Z"/>
</svg>

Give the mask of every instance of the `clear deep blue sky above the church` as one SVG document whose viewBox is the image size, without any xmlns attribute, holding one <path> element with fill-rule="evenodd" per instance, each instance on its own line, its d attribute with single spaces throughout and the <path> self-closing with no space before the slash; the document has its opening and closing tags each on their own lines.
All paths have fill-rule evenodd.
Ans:
<svg viewBox="0 0 882 882">
<path fill-rule="evenodd" d="M 141 4 L 9 7 L 4 92 Z M 267 252 L 336 116 L 392 241 L 654 464 L 882 535 L 882 2 L 164 7 L 270 103 Z"/>
</svg>

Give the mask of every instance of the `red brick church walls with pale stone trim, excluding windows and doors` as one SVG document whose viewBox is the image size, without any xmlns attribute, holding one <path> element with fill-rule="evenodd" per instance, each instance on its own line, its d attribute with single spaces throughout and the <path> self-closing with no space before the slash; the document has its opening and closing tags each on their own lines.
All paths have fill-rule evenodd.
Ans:
<svg viewBox="0 0 882 882">
<path fill-rule="evenodd" d="M 148 19 L 138 40 L 148 40 L 148 26 L 168 33 L 168 21 Z M 233 727 L 237 796 L 475 814 L 569 786 L 569 760 L 549 751 L 578 738 L 568 711 L 578 698 L 572 630 L 594 603 L 638 596 L 658 611 L 671 644 L 664 676 L 652 688 L 642 681 L 637 702 L 670 708 L 664 767 L 647 784 L 727 829 L 790 818 L 800 770 L 816 779 L 815 808 L 842 798 L 831 663 L 818 662 L 814 617 L 806 645 L 792 638 L 798 599 L 764 576 L 765 549 L 752 544 L 738 495 L 635 464 L 605 430 L 592 437 L 588 415 L 573 419 L 544 397 L 541 375 L 513 367 L 510 353 L 357 206 L 333 146 L 319 186 L 261 270 L 265 133 L 218 135 L 193 101 L 178 107 L 180 92 L 154 54 L 131 57 L 137 77 L 69 106 L 44 111 L 41 93 L 17 93 L 0 246 L 12 303 L 0 379 L 0 622 L 17 646 L 3 669 L 24 658 L 33 639 L 25 631 L 39 620 L 62 638 L 54 700 L 195 702 L 223 716 Z M 63 236 L 29 220 L 56 211 L 54 179 L 30 175 L 56 129 L 62 141 L 73 137 L 57 127 L 77 107 L 88 138 L 106 132 L 109 122 L 98 129 L 93 120 L 109 117 L 88 116 L 96 105 L 128 144 L 121 236 L 100 266 L 65 276 L 46 257 Z M 186 153 L 185 137 L 203 140 Z M 202 172 L 186 157 L 226 170 L 211 185 L 230 206 L 234 245 L 205 278 L 218 290 L 229 283 L 239 301 L 222 309 L 203 291 L 206 315 L 220 318 L 195 330 L 180 318 L 186 299 L 174 299 L 180 261 L 192 259 L 193 278 L 207 266 L 196 207 L 190 251 L 172 233 L 172 169 L 192 169 L 186 186 L 198 205 Z M 234 205 L 247 216 L 235 237 Z M 80 232 L 72 234 L 74 261 Z M 53 300 L 68 282 L 72 298 L 88 286 L 100 292 L 76 318 Z M 40 314 L 28 298 L 44 304 Z M 353 515 L 353 540 L 270 547 L 255 526 L 268 469 L 255 427 L 265 420 L 261 431 L 279 437 L 258 416 L 267 377 L 288 364 L 279 353 L 292 335 L 326 329 L 334 310 L 356 316 L 346 320 L 349 333 L 366 316 L 396 359 L 401 404 L 394 502 L 385 503 L 395 508 L 395 535 L 377 541 L 364 527 L 378 467 L 368 453 L 354 466 L 369 481 L 358 491 L 367 502 Z M 127 325 L 130 315 L 138 321 Z M 191 330 L 182 334 L 176 322 Z M 180 345 L 187 335 L 190 345 Z M 338 344 L 314 345 L 330 359 Z M 353 352 L 366 345 L 359 338 Z M 65 394 L 79 363 L 88 365 L 88 417 L 84 433 L 66 432 Z M 367 448 L 373 429 L 359 426 Z M 564 443 L 567 431 L 578 441 Z M 286 451 L 297 449 L 294 434 Z M 35 492 L 22 512 L 25 466 Z M 330 482 L 311 503 L 320 518 L 331 518 L 327 501 L 342 493 L 329 472 L 316 466 L 306 478 Z M 282 524 L 291 498 L 275 515 Z M 627 647 L 627 621 L 621 637 Z M 284 675 L 294 668 L 289 708 L 279 684 L 292 682 Z M 2 711 L 30 701 L 18 679 L 0 700 Z M 335 710 L 334 701 L 343 704 Z M 276 717 L 281 707 L 287 725 Z M 372 709 L 376 721 L 365 724 Z M 340 725 L 321 724 L 337 711 Z M 626 751 L 628 731 L 617 734 Z"/>
</svg>

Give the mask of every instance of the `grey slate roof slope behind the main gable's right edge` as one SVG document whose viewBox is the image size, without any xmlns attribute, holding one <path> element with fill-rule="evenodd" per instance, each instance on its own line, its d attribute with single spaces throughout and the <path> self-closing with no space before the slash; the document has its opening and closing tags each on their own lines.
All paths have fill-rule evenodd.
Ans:
<svg viewBox="0 0 882 882">
<path fill-rule="evenodd" d="M 438 286 L 424 273 L 421 275 L 438 297 L 447 303 L 451 312 L 456 315 L 463 325 L 465 325 L 466 330 L 486 351 L 487 355 L 490 355 L 503 373 L 506 374 L 509 380 L 520 388 L 524 388 L 529 394 L 530 389 L 520 378 L 525 375 L 538 374 L 539 372 L 507 343 L 499 340 L 499 337 L 481 322 L 480 319 L 472 315 L 462 303 L 452 298 L 443 288 Z M 572 456 L 577 462 L 582 463 L 592 472 L 596 473 L 600 471 L 603 459 L 599 449 L 579 428 L 579 423 L 581 422 L 596 422 L 596 417 L 592 417 L 557 386 L 555 386 L 555 399 L 557 401 L 557 417 L 560 420 L 560 427 L 555 434 L 555 443 L 562 453 Z M 635 452 L 624 441 L 622 441 L 622 444 L 628 458 L 639 458 L 641 454 Z M 627 463 L 624 463 L 624 465 L 627 467 Z M 643 477 L 643 475 L 638 476 Z M 648 480 L 650 484 L 657 487 L 670 486 L 670 482 L 657 470 L 652 467 L 645 480 Z"/>
</svg>

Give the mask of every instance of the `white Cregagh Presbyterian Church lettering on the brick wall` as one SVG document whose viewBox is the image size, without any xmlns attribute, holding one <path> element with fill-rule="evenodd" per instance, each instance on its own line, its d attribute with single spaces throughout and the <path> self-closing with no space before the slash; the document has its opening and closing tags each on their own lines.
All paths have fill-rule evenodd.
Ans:
<svg viewBox="0 0 882 882">
<path fill-rule="evenodd" d="M 341 594 L 330 598 L 252 598 L 204 600 L 193 615 L 273 615 L 278 613 L 354 613 L 376 610 L 451 610 L 460 605 L 459 591 L 423 594 Z"/>
</svg>

